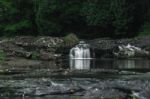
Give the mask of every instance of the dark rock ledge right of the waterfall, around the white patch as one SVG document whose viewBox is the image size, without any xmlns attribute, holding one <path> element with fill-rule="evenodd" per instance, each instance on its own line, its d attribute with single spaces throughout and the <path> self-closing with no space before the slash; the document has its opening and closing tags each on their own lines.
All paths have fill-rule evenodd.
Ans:
<svg viewBox="0 0 150 99">
<path fill-rule="evenodd" d="M 150 36 L 146 37 L 136 37 L 131 39 L 110 39 L 110 38 L 100 38 L 90 40 L 89 44 L 92 48 L 95 49 L 96 57 L 114 57 L 114 51 L 118 50 L 118 47 L 127 46 L 128 44 L 140 48 L 141 51 L 136 50 L 135 58 L 138 56 L 140 57 L 148 57 L 147 52 L 150 52 L 150 43 L 149 43 Z M 130 51 L 131 52 L 131 51 Z M 139 55 L 140 54 L 140 55 Z M 124 57 L 125 58 L 125 57 Z M 128 58 L 128 57 L 126 57 Z"/>
</svg>

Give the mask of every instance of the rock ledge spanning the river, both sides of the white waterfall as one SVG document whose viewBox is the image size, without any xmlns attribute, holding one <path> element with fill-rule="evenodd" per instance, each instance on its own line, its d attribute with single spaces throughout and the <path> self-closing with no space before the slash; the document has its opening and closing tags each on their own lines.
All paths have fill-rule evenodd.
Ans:
<svg viewBox="0 0 150 99">
<path fill-rule="evenodd" d="M 87 41 L 91 48 L 95 50 L 96 58 L 100 57 L 115 57 L 114 51 L 118 55 L 124 56 L 126 52 L 135 57 L 149 57 L 147 54 L 150 52 L 150 36 L 138 37 L 132 39 L 109 39 L 109 38 L 100 38 Z M 133 51 L 127 51 L 126 45 L 130 44 L 132 49 L 133 46 L 141 49 L 137 50 L 134 48 Z M 118 52 L 118 48 L 126 49 Z M 7 53 L 7 56 L 15 57 L 24 57 L 24 58 L 33 58 L 36 57 L 41 60 L 53 60 L 61 58 L 64 56 L 68 58 L 69 51 L 72 47 L 66 46 L 64 44 L 63 38 L 60 37 L 15 37 L 13 39 L 1 39 L 0 40 L 0 49 L 4 50 Z M 131 49 L 131 48 L 130 48 Z M 136 51 L 135 51 L 136 50 Z M 126 57 L 127 58 L 127 57 Z"/>
</svg>

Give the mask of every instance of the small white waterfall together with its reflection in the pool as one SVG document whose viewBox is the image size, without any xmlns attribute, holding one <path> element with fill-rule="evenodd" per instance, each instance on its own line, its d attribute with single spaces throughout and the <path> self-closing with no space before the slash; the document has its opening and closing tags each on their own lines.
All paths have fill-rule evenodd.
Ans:
<svg viewBox="0 0 150 99">
<path fill-rule="evenodd" d="M 90 69 L 93 52 L 89 44 L 80 41 L 70 50 L 70 68 L 71 69 Z"/>
</svg>

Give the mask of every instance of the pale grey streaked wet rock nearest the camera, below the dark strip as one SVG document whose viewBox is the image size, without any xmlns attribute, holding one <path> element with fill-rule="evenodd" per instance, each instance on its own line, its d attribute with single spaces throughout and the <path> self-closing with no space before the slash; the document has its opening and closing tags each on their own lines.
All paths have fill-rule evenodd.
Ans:
<svg viewBox="0 0 150 99">
<path fill-rule="evenodd" d="M 2 94 L 17 96 L 79 95 L 83 99 L 121 98 L 135 96 L 149 99 L 150 83 L 142 80 L 94 80 L 94 79 L 24 79 L 0 80 Z M 5 91 L 2 90 L 5 88 Z"/>
</svg>

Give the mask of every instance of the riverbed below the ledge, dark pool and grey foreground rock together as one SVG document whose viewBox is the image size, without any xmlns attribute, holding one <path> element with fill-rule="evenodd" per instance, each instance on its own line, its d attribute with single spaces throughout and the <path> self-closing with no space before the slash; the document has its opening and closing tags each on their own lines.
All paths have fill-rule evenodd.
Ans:
<svg viewBox="0 0 150 99">
<path fill-rule="evenodd" d="M 150 98 L 148 59 L 94 59 L 82 70 L 71 68 L 67 59 L 51 67 L 17 60 L 1 65 L 1 99 Z"/>
</svg>

